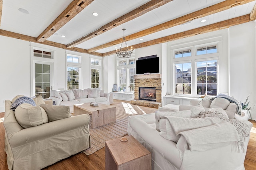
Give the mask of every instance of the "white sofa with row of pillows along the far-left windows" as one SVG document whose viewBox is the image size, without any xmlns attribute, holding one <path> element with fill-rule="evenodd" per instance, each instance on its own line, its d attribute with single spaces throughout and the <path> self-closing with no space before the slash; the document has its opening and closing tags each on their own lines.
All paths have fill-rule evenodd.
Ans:
<svg viewBox="0 0 256 170">
<path fill-rule="evenodd" d="M 74 104 L 97 102 L 110 105 L 110 93 L 104 93 L 100 88 L 51 90 L 50 99 L 56 106 L 69 106 L 70 112 L 74 111 Z"/>
</svg>

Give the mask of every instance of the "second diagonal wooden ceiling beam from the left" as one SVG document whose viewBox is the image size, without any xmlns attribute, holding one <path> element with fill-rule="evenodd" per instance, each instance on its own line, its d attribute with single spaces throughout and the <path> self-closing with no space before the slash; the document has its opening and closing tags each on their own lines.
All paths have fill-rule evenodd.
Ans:
<svg viewBox="0 0 256 170">
<path fill-rule="evenodd" d="M 154 10 L 155 8 L 158 8 L 164 4 L 167 4 L 172 0 L 151 0 L 150 2 L 136 8 L 135 10 L 132 10 L 131 12 L 128 12 L 127 14 L 124 14 L 123 16 L 117 18 L 116 20 L 111 21 L 110 23 L 107 23 L 106 25 L 103 25 L 96 31 L 93 31 L 92 33 L 89 33 L 88 35 L 84 35 L 83 37 L 69 43 L 67 45 L 68 48 L 74 47 L 80 43 L 83 43 L 84 41 L 87 41 L 88 39 L 91 39 L 93 37 L 96 37 L 97 35 L 100 35 L 106 31 L 109 31 L 110 29 L 121 25 L 123 23 L 126 23 L 130 20 L 133 20 L 139 16 L 142 16 L 143 14 Z"/>
</svg>

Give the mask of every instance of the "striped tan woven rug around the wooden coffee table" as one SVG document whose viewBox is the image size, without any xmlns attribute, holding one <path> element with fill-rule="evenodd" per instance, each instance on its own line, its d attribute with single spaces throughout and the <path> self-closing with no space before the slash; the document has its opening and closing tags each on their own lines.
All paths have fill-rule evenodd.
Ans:
<svg viewBox="0 0 256 170">
<path fill-rule="evenodd" d="M 127 135 L 128 116 L 155 113 L 158 109 L 144 106 L 137 106 L 124 102 L 114 102 L 116 106 L 116 121 L 92 129 L 90 122 L 91 147 L 84 150 L 86 155 L 93 154 L 105 147 L 105 141 L 116 139 Z"/>
</svg>

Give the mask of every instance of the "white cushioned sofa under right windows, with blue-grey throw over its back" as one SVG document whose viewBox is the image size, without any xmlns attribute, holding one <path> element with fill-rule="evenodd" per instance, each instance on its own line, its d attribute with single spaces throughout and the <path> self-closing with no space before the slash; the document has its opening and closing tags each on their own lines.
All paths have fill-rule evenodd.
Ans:
<svg viewBox="0 0 256 170">
<path fill-rule="evenodd" d="M 190 110 L 196 106 L 203 106 L 205 110 L 209 110 L 211 108 L 221 107 L 227 113 L 230 119 L 234 119 L 235 113 L 237 109 L 237 104 L 230 102 L 229 100 L 221 97 L 210 98 L 206 96 L 203 100 L 190 100 L 190 105 L 174 105 L 167 104 L 165 106 L 159 107 L 158 111 L 182 111 L 182 110 Z"/>
</svg>

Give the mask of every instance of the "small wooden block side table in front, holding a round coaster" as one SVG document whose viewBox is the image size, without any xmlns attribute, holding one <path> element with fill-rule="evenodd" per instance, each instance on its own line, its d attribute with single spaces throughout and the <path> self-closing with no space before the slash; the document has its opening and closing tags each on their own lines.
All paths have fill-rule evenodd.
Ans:
<svg viewBox="0 0 256 170">
<path fill-rule="evenodd" d="M 151 170 L 151 153 L 134 137 L 106 141 L 106 170 Z"/>
</svg>

